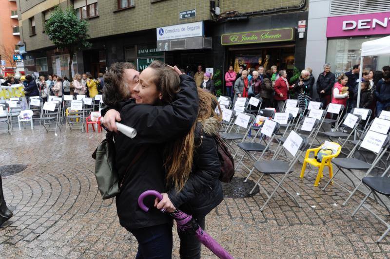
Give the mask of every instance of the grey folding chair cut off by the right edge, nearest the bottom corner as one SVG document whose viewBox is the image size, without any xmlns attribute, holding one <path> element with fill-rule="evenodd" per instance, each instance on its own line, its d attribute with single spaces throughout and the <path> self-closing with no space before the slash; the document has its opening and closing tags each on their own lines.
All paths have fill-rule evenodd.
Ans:
<svg viewBox="0 0 390 259">
<path fill-rule="evenodd" d="M 366 197 L 363 198 L 362 202 L 357 206 L 355 211 L 352 213 L 352 217 L 355 216 L 356 212 L 363 206 L 365 207 L 372 215 L 375 216 L 379 221 L 384 223 L 387 226 L 386 231 L 382 234 L 382 236 L 377 240 L 379 243 L 382 241 L 384 237 L 389 233 L 390 231 L 390 223 L 386 222 L 384 219 L 379 217 L 373 210 L 371 210 L 369 207 L 365 206 L 364 203 L 367 201 L 371 193 L 374 195 L 374 198 L 380 203 L 382 203 L 387 211 L 390 213 L 390 209 L 388 207 L 388 203 L 383 202 L 382 198 L 378 194 L 384 195 L 387 199 L 390 197 L 390 175 L 388 176 L 387 173 L 389 172 L 390 166 L 385 170 L 385 172 L 382 174 L 382 176 L 371 176 L 371 177 L 363 177 L 362 183 L 367 186 L 370 191 L 366 195 Z"/>
</svg>

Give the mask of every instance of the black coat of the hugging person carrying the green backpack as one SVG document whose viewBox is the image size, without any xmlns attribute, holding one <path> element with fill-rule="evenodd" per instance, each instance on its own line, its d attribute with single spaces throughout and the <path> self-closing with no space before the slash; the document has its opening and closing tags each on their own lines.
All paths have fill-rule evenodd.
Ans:
<svg viewBox="0 0 390 259">
<path fill-rule="evenodd" d="M 139 195 L 146 190 L 166 192 L 163 150 L 165 143 L 185 134 L 194 124 L 198 113 L 198 94 L 194 79 L 180 75 L 180 92 L 168 106 L 136 104 L 133 100 L 121 103 L 121 123 L 135 128 L 137 136 L 130 139 L 122 133 L 114 137 L 116 148 L 115 166 L 119 179 L 123 179 L 127 166 L 147 145 L 146 151 L 129 170 L 123 182 L 120 194 L 116 197 L 119 223 L 125 228 L 142 228 L 170 222 L 168 215 L 163 215 L 154 208 L 154 198 L 144 200 L 151 208 L 141 210 L 137 204 Z M 103 111 L 104 115 L 104 111 Z"/>
</svg>

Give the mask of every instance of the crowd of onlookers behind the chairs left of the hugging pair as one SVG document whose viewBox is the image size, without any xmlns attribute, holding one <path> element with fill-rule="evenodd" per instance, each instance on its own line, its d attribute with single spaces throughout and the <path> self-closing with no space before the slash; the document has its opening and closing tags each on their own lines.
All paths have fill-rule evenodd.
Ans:
<svg viewBox="0 0 390 259">
<path fill-rule="evenodd" d="M 40 96 L 44 102 L 49 95 L 85 94 L 87 97 L 94 98 L 95 95 L 101 94 L 104 88 L 103 73 L 99 73 L 98 78 L 94 78 L 90 73 L 75 74 L 72 80 L 69 80 L 66 76 L 61 77 L 56 74 L 49 74 L 46 77 L 41 75 L 39 78 L 35 78 L 31 74 L 9 75 L 6 78 L 0 75 L 0 83 L 2 86 L 22 84 L 26 97 Z"/>
</svg>

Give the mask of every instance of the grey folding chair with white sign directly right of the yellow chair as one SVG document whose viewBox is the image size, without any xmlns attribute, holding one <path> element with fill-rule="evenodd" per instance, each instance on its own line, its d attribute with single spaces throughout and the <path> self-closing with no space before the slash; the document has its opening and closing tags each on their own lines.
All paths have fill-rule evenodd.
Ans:
<svg viewBox="0 0 390 259">
<path fill-rule="evenodd" d="M 322 188 L 322 190 L 325 190 L 325 188 L 333 182 L 334 177 L 339 173 L 342 172 L 352 183 L 353 187 L 355 187 L 355 190 L 352 192 L 344 187 L 343 185 L 339 185 L 346 191 L 348 191 L 351 195 L 347 198 L 345 203 L 348 202 L 348 200 L 351 198 L 351 196 L 356 192 L 357 188 L 351 179 L 351 176 L 353 176 L 358 181 L 361 181 L 361 178 L 356 175 L 353 170 L 364 170 L 366 171 L 366 176 L 370 174 L 372 169 L 376 166 L 377 162 L 382 158 L 382 156 L 385 154 L 386 150 L 388 149 L 389 144 L 389 136 L 385 134 L 381 134 L 378 132 L 374 132 L 369 130 L 364 136 L 362 136 L 362 140 L 359 142 L 358 145 L 356 145 L 350 154 L 347 157 L 344 158 L 334 158 L 332 160 L 332 164 L 337 166 L 338 170 L 333 174 L 331 179 L 328 181 L 328 183 Z M 372 145 L 372 143 L 375 143 L 375 146 Z M 372 152 L 374 154 L 374 159 L 371 163 L 365 162 L 363 160 L 357 159 L 354 157 L 355 152 L 357 151 L 357 148 L 364 148 L 369 152 Z M 348 173 L 346 171 L 348 171 Z M 344 203 L 344 204 L 345 204 Z"/>
</svg>

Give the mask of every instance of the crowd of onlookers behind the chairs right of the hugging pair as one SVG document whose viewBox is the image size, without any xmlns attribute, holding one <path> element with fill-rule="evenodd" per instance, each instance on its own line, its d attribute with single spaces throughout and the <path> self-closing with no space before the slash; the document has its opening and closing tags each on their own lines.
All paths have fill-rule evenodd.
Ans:
<svg viewBox="0 0 390 259">
<path fill-rule="evenodd" d="M 360 65 L 354 65 L 351 71 L 336 78 L 331 72 L 331 64 L 326 63 L 316 81 L 316 101 L 322 102 L 324 108 L 330 103 L 342 104 L 350 112 L 357 107 L 359 72 Z M 261 66 L 250 72 L 240 67 L 238 73 L 230 66 L 225 73 L 226 95 L 233 103 L 238 97 L 261 97 L 262 108 L 273 107 L 277 111 L 282 111 L 289 98 L 297 99 L 300 108 L 307 108 L 313 99 L 314 83 L 311 68 L 302 70 L 293 82 L 287 78 L 285 70 L 277 71 L 276 66 L 266 72 Z M 390 109 L 390 66 L 384 66 L 382 71 L 363 71 L 359 107 L 371 109 L 373 115 Z"/>
</svg>

